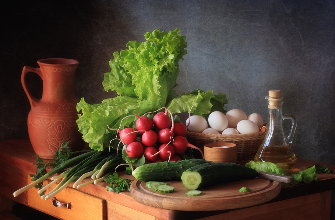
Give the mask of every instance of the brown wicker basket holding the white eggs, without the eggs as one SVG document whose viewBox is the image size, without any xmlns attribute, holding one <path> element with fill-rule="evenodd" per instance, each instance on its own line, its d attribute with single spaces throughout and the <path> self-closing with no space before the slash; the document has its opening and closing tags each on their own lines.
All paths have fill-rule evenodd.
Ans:
<svg viewBox="0 0 335 220">
<path fill-rule="evenodd" d="M 207 143 L 220 141 L 231 142 L 237 146 L 237 161 L 236 163 L 245 164 L 254 159 L 258 148 L 262 144 L 265 137 L 266 124 L 261 128 L 260 132 L 252 134 L 208 134 L 187 132 L 187 140 L 189 143 L 199 147 L 204 152 L 204 145 Z M 199 151 L 193 150 L 195 158 L 203 158 Z"/>
</svg>

